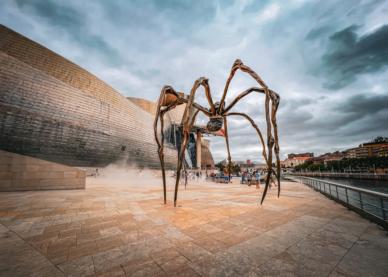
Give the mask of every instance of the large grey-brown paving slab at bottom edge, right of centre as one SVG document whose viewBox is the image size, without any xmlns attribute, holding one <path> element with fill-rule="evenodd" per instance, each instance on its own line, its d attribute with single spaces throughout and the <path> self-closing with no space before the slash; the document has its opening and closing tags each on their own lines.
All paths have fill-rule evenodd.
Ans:
<svg viewBox="0 0 388 277">
<path fill-rule="evenodd" d="M 331 270 L 333 270 L 333 266 L 331 265 L 288 250 L 283 251 L 271 260 L 260 265 L 260 268 L 270 274 L 282 277 L 324 277 L 329 275 Z"/>
</svg>

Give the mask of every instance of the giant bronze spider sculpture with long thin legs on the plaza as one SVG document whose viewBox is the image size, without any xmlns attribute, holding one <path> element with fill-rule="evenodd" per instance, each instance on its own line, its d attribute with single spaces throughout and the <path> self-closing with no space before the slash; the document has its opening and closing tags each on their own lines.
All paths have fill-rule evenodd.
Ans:
<svg viewBox="0 0 388 277">
<path fill-rule="evenodd" d="M 261 88 L 258 87 L 251 87 L 248 90 L 242 92 L 240 95 L 238 95 L 230 104 L 225 108 L 225 96 L 228 91 L 229 83 L 232 80 L 234 74 L 236 73 L 237 69 L 240 69 L 243 72 L 248 73 L 251 75 L 261 86 Z M 189 132 L 191 131 L 192 126 L 194 125 L 194 120 L 198 114 L 199 111 L 204 113 L 206 116 L 209 117 L 210 121 L 206 125 L 207 129 L 210 132 L 217 132 L 218 130 L 221 129 L 222 124 L 224 125 L 224 130 L 225 130 L 225 140 L 226 140 L 226 146 L 228 150 L 228 161 L 229 161 L 229 178 L 230 178 L 230 152 L 229 152 L 229 141 L 228 141 L 228 131 L 227 131 L 227 124 L 226 124 L 226 117 L 227 116 L 243 116 L 244 118 L 248 119 L 248 121 L 251 123 L 253 128 L 255 128 L 256 132 L 260 136 L 260 140 L 263 145 L 263 157 L 265 158 L 265 162 L 267 163 L 268 166 L 268 171 L 273 172 L 275 177 L 277 177 L 277 182 L 278 182 L 278 192 L 277 192 L 277 197 L 279 197 L 280 194 L 280 160 L 279 160 L 279 144 L 277 140 L 277 125 L 276 125 L 276 111 L 279 106 L 280 102 L 280 97 L 277 93 L 275 93 L 272 90 L 269 90 L 267 85 L 262 81 L 262 79 L 248 66 L 244 66 L 242 62 L 237 59 L 233 66 L 232 70 L 230 71 L 230 75 L 228 80 L 226 81 L 225 89 L 223 91 L 222 99 L 220 102 L 215 102 L 213 103 L 213 100 L 211 99 L 211 94 L 210 94 L 210 87 L 208 83 L 209 79 L 206 79 L 204 77 L 199 78 L 194 82 L 194 86 L 191 89 L 189 99 L 185 99 L 182 97 L 179 93 L 177 93 L 172 87 L 170 86 L 165 86 L 163 87 L 159 101 L 158 101 L 158 108 L 156 112 L 156 117 L 154 121 L 154 132 L 155 132 L 155 139 L 158 144 L 158 154 L 159 154 L 159 159 L 161 163 L 161 168 L 162 168 L 162 178 L 163 178 L 163 190 L 164 190 L 164 199 L 165 199 L 165 204 L 166 204 L 166 175 L 165 175 L 165 162 L 164 162 L 164 155 L 163 155 L 163 142 L 165 139 L 164 133 L 163 133 L 163 118 L 164 114 L 171 109 L 175 108 L 178 104 L 184 104 L 186 103 L 186 109 L 184 113 L 184 124 L 183 124 L 183 135 L 184 139 L 182 142 L 182 147 L 180 149 L 180 156 L 178 159 L 178 168 L 177 168 L 177 180 L 175 183 L 175 194 L 174 194 L 174 207 L 177 206 L 177 194 L 178 194 L 178 185 L 179 185 L 179 177 L 180 177 L 180 170 L 182 169 L 182 162 L 184 160 L 184 153 L 186 149 L 186 143 L 187 143 L 187 138 L 189 137 Z M 208 99 L 210 108 L 207 109 L 205 107 L 202 107 L 194 102 L 194 95 L 199 88 L 199 86 L 203 86 L 205 88 L 205 93 L 206 93 L 206 98 Z M 260 92 L 265 95 L 265 119 L 267 122 L 267 148 L 268 148 L 268 156 L 267 153 L 265 152 L 265 142 L 262 136 L 262 133 L 260 132 L 259 128 L 253 122 L 253 120 L 247 116 L 244 113 L 234 113 L 234 112 L 229 112 L 230 109 L 240 100 L 242 97 L 248 95 L 251 92 Z M 165 102 L 166 95 L 167 94 L 172 94 L 176 98 L 172 100 L 169 104 L 167 104 L 165 107 L 161 107 L 161 105 Z M 271 100 L 271 112 L 269 110 L 269 102 Z M 194 107 L 196 108 L 196 112 L 194 115 L 190 115 L 189 111 L 190 108 Z M 161 125 L 161 140 L 158 138 L 158 131 L 157 131 L 157 125 L 158 125 L 158 118 L 160 118 L 160 125 Z M 189 123 L 189 119 L 191 118 L 191 122 Z M 274 136 L 272 136 L 272 125 L 274 126 Z M 201 142 L 197 142 L 201 143 Z M 272 168 L 272 149 L 274 149 L 275 156 L 276 156 L 276 162 L 277 162 L 277 172 Z M 200 166 L 200 165 L 199 165 Z M 184 163 L 184 168 L 185 168 L 185 163 Z M 187 180 L 187 175 L 186 175 L 186 180 Z M 267 189 L 268 189 L 268 183 L 270 182 L 270 178 L 267 178 L 265 181 L 265 187 L 264 187 L 264 192 L 262 196 L 261 203 L 263 203 L 264 197 L 267 194 Z"/>
</svg>

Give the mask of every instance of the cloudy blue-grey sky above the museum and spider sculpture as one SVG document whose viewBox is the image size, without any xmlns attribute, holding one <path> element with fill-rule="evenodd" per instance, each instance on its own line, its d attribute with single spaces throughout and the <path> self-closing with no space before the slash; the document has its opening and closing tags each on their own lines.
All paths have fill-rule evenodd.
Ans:
<svg viewBox="0 0 388 277">
<path fill-rule="evenodd" d="M 388 1 L 5 0 L 0 23 L 95 74 L 126 97 L 156 101 L 164 85 L 189 93 L 209 78 L 220 99 L 236 59 L 279 93 L 281 159 L 388 137 Z M 258 84 L 238 72 L 227 104 Z M 265 133 L 262 94 L 234 111 Z M 208 107 L 203 88 L 196 102 Z M 201 116 L 199 123 L 208 120 Z M 232 159 L 263 161 L 260 140 L 228 118 Z M 215 161 L 225 139 L 211 138 Z"/>
</svg>

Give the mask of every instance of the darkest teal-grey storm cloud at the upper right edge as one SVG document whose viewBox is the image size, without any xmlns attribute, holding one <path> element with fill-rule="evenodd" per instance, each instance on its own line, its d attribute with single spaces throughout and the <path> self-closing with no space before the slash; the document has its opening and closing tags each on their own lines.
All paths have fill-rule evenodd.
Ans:
<svg viewBox="0 0 388 277">
<path fill-rule="evenodd" d="M 388 64 L 388 25 L 361 37 L 356 33 L 359 28 L 353 25 L 330 37 L 328 53 L 322 57 L 325 88 L 339 90 L 357 75 L 378 72 Z"/>
</svg>

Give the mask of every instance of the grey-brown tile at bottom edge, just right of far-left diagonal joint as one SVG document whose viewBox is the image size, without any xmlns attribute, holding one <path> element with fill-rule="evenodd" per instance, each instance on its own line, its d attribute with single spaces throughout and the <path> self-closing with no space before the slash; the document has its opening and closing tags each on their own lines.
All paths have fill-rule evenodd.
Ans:
<svg viewBox="0 0 388 277">
<path fill-rule="evenodd" d="M 85 277 L 94 273 L 92 255 L 61 263 L 59 269 L 68 277 Z"/>
</svg>

